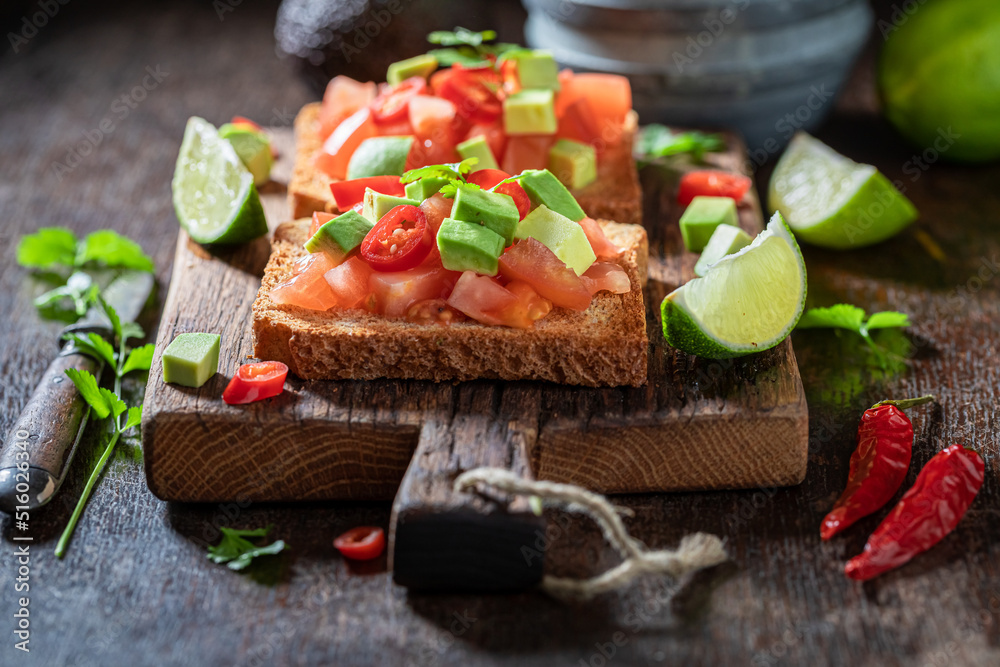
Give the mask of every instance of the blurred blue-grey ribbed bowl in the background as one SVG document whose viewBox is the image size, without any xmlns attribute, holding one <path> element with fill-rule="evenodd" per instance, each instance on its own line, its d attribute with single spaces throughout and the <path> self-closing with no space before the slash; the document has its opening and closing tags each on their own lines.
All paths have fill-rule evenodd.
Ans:
<svg viewBox="0 0 1000 667">
<path fill-rule="evenodd" d="M 527 43 L 632 82 L 644 123 L 731 127 L 777 152 L 815 127 L 872 25 L 866 0 L 523 0 Z"/>
</svg>

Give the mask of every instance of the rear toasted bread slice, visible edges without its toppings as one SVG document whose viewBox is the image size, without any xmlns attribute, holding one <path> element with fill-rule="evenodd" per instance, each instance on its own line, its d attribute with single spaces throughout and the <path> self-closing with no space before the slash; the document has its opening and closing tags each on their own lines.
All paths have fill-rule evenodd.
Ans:
<svg viewBox="0 0 1000 667">
<path fill-rule="evenodd" d="M 319 109 L 319 102 L 307 104 L 295 118 L 295 169 L 288 184 L 288 201 L 294 218 L 312 215 L 314 211 L 337 210 L 330 193 L 333 179 L 313 166 L 316 154 L 323 149 Z M 638 116 L 632 112 L 625 119 L 622 141 L 601 156 L 597 180 L 573 192 L 583 210 L 595 220 L 642 223 L 642 190 L 632 159 L 632 138 L 637 126 Z"/>
</svg>

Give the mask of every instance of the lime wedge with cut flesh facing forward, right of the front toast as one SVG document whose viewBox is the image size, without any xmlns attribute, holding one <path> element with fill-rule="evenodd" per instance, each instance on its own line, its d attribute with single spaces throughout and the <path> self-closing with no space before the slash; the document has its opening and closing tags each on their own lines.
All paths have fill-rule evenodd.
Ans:
<svg viewBox="0 0 1000 667">
<path fill-rule="evenodd" d="M 802 253 L 775 213 L 753 243 L 667 295 L 663 335 L 680 350 L 712 359 L 760 352 L 788 336 L 805 300 Z"/>
</svg>

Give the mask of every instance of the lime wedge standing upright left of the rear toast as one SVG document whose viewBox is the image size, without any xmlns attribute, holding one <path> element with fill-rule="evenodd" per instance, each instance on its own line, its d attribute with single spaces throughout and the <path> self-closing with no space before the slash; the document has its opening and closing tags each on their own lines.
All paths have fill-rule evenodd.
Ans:
<svg viewBox="0 0 1000 667">
<path fill-rule="evenodd" d="M 243 243 L 267 233 L 253 176 L 206 120 L 188 119 L 172 187 L 177 219 L 198 243 Z"/>
</svg>

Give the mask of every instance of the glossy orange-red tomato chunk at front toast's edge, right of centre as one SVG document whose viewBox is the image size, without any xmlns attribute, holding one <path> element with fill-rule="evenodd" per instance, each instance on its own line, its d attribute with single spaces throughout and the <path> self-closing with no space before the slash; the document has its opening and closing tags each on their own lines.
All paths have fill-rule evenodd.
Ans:
<svg viewBox="0 0 1000 667">
<path fill-rule="evenodd" d="M 475 271 L 463 273 L 448 297 L 449 306 L 474 320 L 517 329 L 530 329 L 536 320 L 545 317 L 551 309 L 551 303 L 547 307 L 546 303 L 526 283 L 512 282 L 504 287 Z"/>
</svg>

